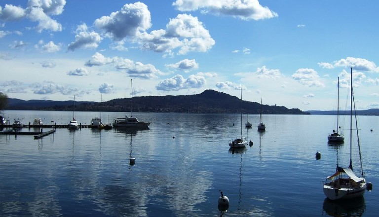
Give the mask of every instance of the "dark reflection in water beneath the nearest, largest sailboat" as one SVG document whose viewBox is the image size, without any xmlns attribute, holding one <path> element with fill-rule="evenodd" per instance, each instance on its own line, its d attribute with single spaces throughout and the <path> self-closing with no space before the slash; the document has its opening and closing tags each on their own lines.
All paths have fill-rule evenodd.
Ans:
<svg viewBox="0 0 379 217">
<path fill-rule="evenodd" d="M 366 204 L 364 197 L 358 197 L 352 200 L 330 200 L 325 198 L 322 206 L 323 214 L 328 216 L 354 216 L 361 217 L 365 213 Z"/>
</svg>

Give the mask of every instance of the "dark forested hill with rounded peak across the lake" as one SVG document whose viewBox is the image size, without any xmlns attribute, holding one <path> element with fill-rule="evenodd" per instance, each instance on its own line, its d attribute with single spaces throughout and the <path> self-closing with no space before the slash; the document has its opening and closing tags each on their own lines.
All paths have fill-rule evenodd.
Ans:
<svg viewBox="0 0 379 217">
<path fill-rule="evenodd" d="M 73 110 L 73 101 L 45 101 L 9 99 L 7 109 L 19 110 Z M 242 102 L 243 113 L 259 113 L 261 105 L 256 102 Z M 148 96 L 114 99 L 107 102 L 75 102 L 77 111 L 125 111 L 133 107 L 135 112 L 189 112 L 189 113 L 240 113 L 241 100 L 235 96 L 215 90 L 200 94 L 180 96 Z M 284 106 L 263 105 L 264 114 L 309 114 L 300 109 Z"/>
</svg>

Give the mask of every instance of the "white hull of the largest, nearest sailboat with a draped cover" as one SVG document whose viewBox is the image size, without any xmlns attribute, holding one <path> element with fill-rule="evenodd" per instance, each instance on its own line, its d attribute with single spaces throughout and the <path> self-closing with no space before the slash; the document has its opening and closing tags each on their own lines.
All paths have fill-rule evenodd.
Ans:
<svg viewBox="0 0 379 217">
<path fill-rule="evenodd" d="M 329 183 L 324 184 L 324 194 L 331 200 L 345 200 L 361 197 L 366 191 L 367 183 L 361 183 L 358 187 L 340 187 L 336 188 Z"/>
</svg>

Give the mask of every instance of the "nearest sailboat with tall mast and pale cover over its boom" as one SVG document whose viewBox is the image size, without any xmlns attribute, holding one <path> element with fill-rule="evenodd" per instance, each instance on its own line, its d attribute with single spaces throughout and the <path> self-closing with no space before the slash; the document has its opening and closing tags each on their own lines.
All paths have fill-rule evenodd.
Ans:
<svg viewBox="0 0 379 217">
<path fill-rule="evenodd" d="M 361 148 L 358 135 L 358 123 L 356 117 L 352 81 L 352 68 L 350 68 L 350 163 L 349 166 L 346 168 L 339 167 L 339 164 L 337 163 L 336 172 L 332 176 L 327 177 L 326 181 L 323 181 L 324 194 L 327 196 L 327 198 L 331 200 L 352 199 L 361 197 L 363 196 L 367 188 L 365 174 L 363 172 L 362 166 Z M 360 163 L 360 174 L 358 176 L 353 172 L 352 166 L 353 106 Z"/>
</svg>

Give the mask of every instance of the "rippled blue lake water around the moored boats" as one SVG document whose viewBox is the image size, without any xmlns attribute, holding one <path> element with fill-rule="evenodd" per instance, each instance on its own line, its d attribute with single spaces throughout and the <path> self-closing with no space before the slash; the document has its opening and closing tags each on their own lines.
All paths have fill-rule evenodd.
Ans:
<svg viewBox="0 0 379 217">
<path fill-rule="evenodd" d="M 102 112 L 102 119 L 112 122 L 124 114 L 129 115 Z M 72 116 L 4 111 L 11 123 L 20 118 L 24 124 L 35 117 L 67 124 Z M 89 124 L 100 113 L 75 116 Z M 374 188 L 354 204 L 325 200 L 322 190 L 322 181 L 335 171 L 337 151 L 343 160 L 348 147 L 347 130 L 344 145 L 327 144 L 333 116 L 264 115 L 266 131 L 258 132 L 259 115 L 249 115 L 253 128 L 243 127 L 243 134 L 254 145 L 234 152 L 228 141 L 241 132 L 239 114 L 134 116 L 153 123 L 147 130 L 57 129 L 39 140 L 0 135 L 0 216 L 378 215 L 378 116 L 358 117 L 366 179 Z M 130 156 L 135 165 L 129 164 Z M 224 213 L 218 208 L 219 190 L 230 200 Z"/>
</svg>

